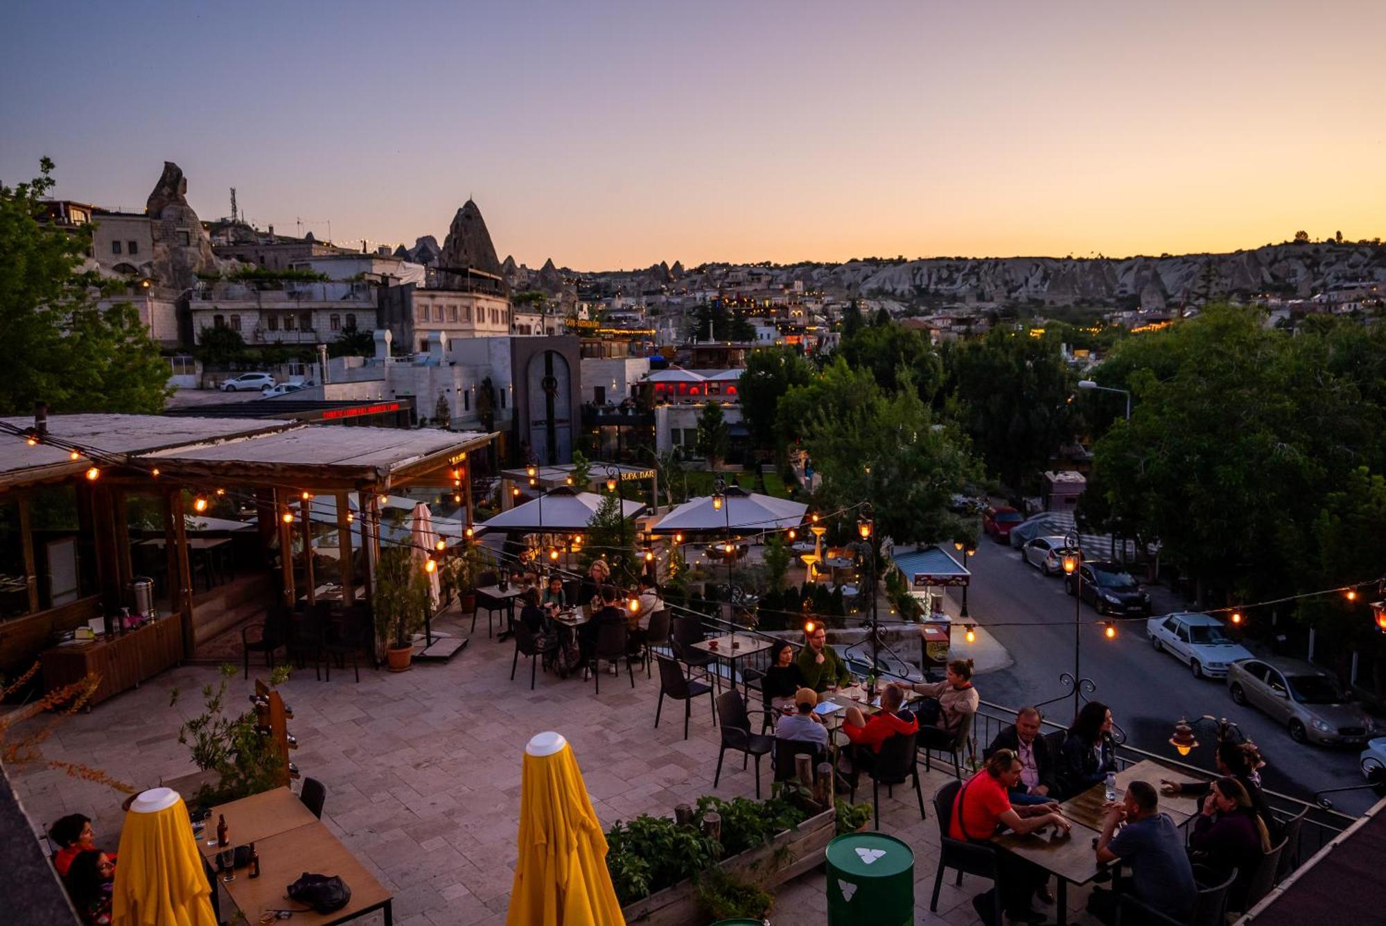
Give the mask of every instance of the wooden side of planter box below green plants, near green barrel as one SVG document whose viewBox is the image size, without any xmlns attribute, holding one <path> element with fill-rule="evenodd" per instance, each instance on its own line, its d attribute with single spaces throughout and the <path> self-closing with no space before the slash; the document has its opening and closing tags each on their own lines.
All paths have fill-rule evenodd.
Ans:
<svg viewBox="0 0 1386 926">
<path fill-rule="evenodd" d="M 722 862 L 722 868 L 772 890 L 823 862 L 823 850 L 837 835 L 837 812 L 826 810 L 809 816 L 797 830 L 787 829 L 768 846 L 747 850 Z M 687 926 L 699 920 L 697 890 L 692 880 L 656 891 L 621 909 L 628 923 Z"/>
</svg>

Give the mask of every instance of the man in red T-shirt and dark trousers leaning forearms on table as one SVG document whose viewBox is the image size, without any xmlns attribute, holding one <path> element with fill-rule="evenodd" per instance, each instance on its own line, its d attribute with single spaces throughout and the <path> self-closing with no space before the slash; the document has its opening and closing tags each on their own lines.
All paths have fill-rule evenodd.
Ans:
<svg viewBox="0 0 1386 926">
<path fill-rule="evenodd" d="M 1024 836 L 1045 826 L 1053 826 L 1060 835 L 1069 833 L 1071 823 L 1059 812 L 1059 804 L 1030 804 L 1015 807 L 1008 797 L 1020 783 L 1020 760 L 1009 749 L 998 749 L 983 765 L 981 771 L 958 789 L 954 798 L 948 835 L 965 843 L 985 843 L 997 835 L 998 828 Z M 1048 873 L 1010 853 L 997 853 L 997 884 L 1001 890 L 1001 908 L 1012 920 L 1038 923 L 1044 915 L 1030 907 L 1037 889 Z M 972 898 L 973 909 L 984 923 L 991 923 L 995 908 L 992 887 Z M 991 926 L 1001 926 L 991 923 Z"/>
</svg>

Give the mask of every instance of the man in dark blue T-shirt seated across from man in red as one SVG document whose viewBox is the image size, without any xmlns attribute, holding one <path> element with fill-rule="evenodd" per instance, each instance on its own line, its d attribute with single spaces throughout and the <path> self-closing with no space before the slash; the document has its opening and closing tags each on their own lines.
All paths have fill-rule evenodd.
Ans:
<svg viewBox="0 0 1386 926">
<path fill-rule="evenodd" d="M 1091 707 L 1091 704 L 1089 704 Z M 1117 825 L 1125 822 L 1121 832 Z M 1131 875 L 1119 887 L 1170 919 L 1186 922 L 1198 902 L 1199 886 L 1184 851 L 1184 836 L 1168 814 L 1160 812 L 1160 794 L 1149 782 L 1131 782 L 1125 797 L 1106 805 L 1096 843 L 1098 862 L 1120 861 Z M 1095 889 L 1088 912 L 1103 923 L 1116 922 L 1117 896 Z"/>
</svg>

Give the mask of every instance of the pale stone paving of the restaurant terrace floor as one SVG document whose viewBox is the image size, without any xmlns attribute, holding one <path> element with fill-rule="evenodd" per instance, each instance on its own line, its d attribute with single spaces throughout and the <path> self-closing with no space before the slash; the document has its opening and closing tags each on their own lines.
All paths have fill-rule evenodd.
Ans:
<svg viewBox="0 0 1386 926">
<path fill-rule="evenodd" d="M 450 624 L 441 622 L 455 629 Z M 401 926 L 505 923 L 517 854 L 521 753 L 541 731 L 559 731 L 572 743 L 604 826 L 640 812 L 672 814 L 675 804 L 700 794 L 754 794 L 751 772 L 743 772 L 732 754 L 721 787 L 712 790 L 718 737 L 707 699 L 694 704 L 685 742 L 678 703 L 665 704 L 654 729 L 657 672 L 653 679 L 638 674 L 635 690 L 624 672 L 620 679 L 607 675 L 600 697 L 590 681 L 541 672 L 529 692 L 527 660 L 521 658 L 516 681 L 509 679 L 511 653 L 511 643 L 486 639 L 478 624 L 471 645 L 446 665 L 416 664 L 396 675 L 363 668 L 359 685 L 349 668 L 334 671 L 331 682 L 316 681 L 309 668 L 280 688 L 295 711 L 290 731 L 301 746 L 294 761 L 327 786 L 324 822 L 394 891 Z M 252 671 L 251 682 L 234 679 L 229 696 L 234 710 L 247 704 L 254 678 Z M 90 714 L 64 718 L 44 754 L 98 767 L 139 786 L 193 772 L 177 728 L 201 710 L 201 686 L 215 679 L 213 667 L 165 672 Z M 180 697 L 169 707 L 175 688 Z M 11 772 L 36 826 L 80 811 L 94 819 L 103 846 L 116 846 L 121 794 L 36 765 Z M 924 778 L 927 821 L 920 821 L 909 787 L 897 787 L 893 798 L 883 789 L 881 829 L 915 850 L 916 922 L 967 926 L 980 922 L 970 904 L 984 890 L 979 879 L 965 879 L 962 889 L 945 879 L 938 915 L 929 912 L 938 847 L 929 801 L 945 782 L 937 771 Z M 766 794 L 768 786 L 766 761 Z M 858 797 L 869 793 L 868 783 Z M 825 923 L 823 890 L 821 871 L 786 884 L 772 922 Z M 1071 919 L 1085 919 L 1076 914 L 1085 897 L 1087 889 L 1070 890 Z M 377 914 L 360 922 L 380 920 Z"/>
</svg>

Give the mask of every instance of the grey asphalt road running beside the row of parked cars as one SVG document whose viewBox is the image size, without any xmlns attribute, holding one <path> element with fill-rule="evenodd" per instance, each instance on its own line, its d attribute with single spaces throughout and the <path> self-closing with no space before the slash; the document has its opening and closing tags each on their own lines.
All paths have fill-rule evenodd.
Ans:
<svg viewBox="0 0 1386 926">
<path fill-rule="evenodd" d="M 1019 550 L 983 538 L 969 563 L 973 584 L 967 592 L 967 610 L 977 624 L 987 627 L 1008 649 L 1015 663 L 997 672 L 977 676 L 984 700 L 1020 706 L 1058 696 L 1060 672 L 1073 671 L 1074 599 L 1064 593 L 1063 581 L 1045 578 L 1021 561 Z M 1173 599 L 1164 589 L 1155 589 L 1156 613 L 1171 610 Z M 1161 607 L 1166 606 L 1166 607 Z M 1082 606 L 1087 621 L 1100 620 Z M 1040 625 L 1006 627 L 1012 621 L 1038 621 Z M 1263 769 L 1265 786 L 1275 792 L 1310 798 L 1317 789 L 1362 783 L 1357 767 L 1360 749 L 1329 750 L 1300 746 L 1289 733 L 1250 707 L 1238 707 L 1222 681 L 1195 679 L 1188 667 L 1168 653 L 1156 653 L 1145 636 L 1143 621 L 1119 622 L 1119 636 L 1107 640 L 1100 627 L 1082 629 L 1082 675 L 1098 685 L 1095 700 L 1112 706 L 1113 715 L 1128 742 L 1148 751 L 1178 758 L 1168 739 L 1181 715 L 1213 714 L 1235 721 L 1256 740 L 1267 758 Z M 1058 722 L 1071 717 L 1073 701 L 1051 704 L 1046 715 Z M 1207 732 L 1204 732 L 1207 731 Z M 1213 768 L 1211 729 L 1198 731 L 1199 749 L 1189 755 L 1203 768 Z M 1335 807 L 1360 814 L 1375 798 L 1369 792 L 1333 796 Z"/>
</svg>

